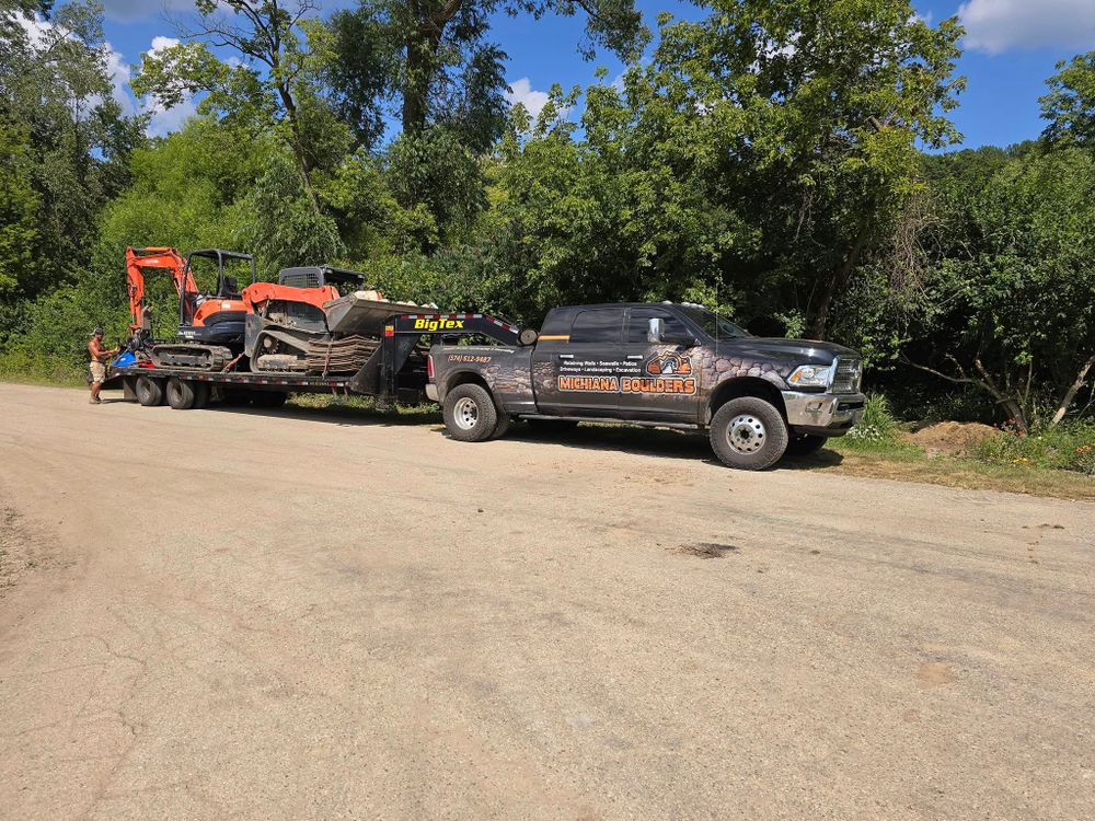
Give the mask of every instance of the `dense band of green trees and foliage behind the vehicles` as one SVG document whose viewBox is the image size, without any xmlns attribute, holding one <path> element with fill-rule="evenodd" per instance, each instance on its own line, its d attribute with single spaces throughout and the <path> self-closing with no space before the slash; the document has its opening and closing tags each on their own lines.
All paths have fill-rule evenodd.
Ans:
<svg viewBox="0 0 1095 821">
<path fill-rule="evenodd" d="M 691 21 L 632 0 L 325 19 L 197 0 L 132 84 L 160 107 L 197 94 L 198 114 L 150 139 L 112 99 L 101 7 L 51 5 L 0 0 L 9 365 L 77 363 L 91 326 L 124 329 L 126 245 L 227 246 L 266 277 L 338 262 L 530 322 L 569 301 L 717 303 L 857 347 L 906 413 L 1092 409 L 1095 53 L 1049 79 L 1040 140 L 940 153 L 960 141 L 963 33 L 909 0 L 704 0 Z M 627 68 L 553 88 L 533 119 L 506 103 L 497 11 L 581 15 L 576 51 Z"/>
</svg>

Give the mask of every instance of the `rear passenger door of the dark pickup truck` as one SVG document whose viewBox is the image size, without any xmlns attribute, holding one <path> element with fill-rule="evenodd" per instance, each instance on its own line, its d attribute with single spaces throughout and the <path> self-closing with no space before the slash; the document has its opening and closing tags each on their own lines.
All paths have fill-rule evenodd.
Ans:
<svg viewBox="0 0 1095 821">
<path fill-rule="evenodd" d="M 567 334 L 541 337 L 532 363 L 543 413 L 615 415 L 625 313 L 622 307 L 577 309 Z"/>
</svg>

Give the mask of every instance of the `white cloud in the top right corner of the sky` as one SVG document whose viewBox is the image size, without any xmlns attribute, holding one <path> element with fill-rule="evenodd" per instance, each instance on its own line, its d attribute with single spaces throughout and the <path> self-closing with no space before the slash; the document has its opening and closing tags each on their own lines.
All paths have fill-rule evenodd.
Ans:
<svg viewBox="0 0 1095 821">
<path fill-rule="evenodd" d="M 966 46 L 989 54 L 1010 48 L 1095 46 L 1093 0 L 968 0 L 958 7 Z"/>
</svg>

